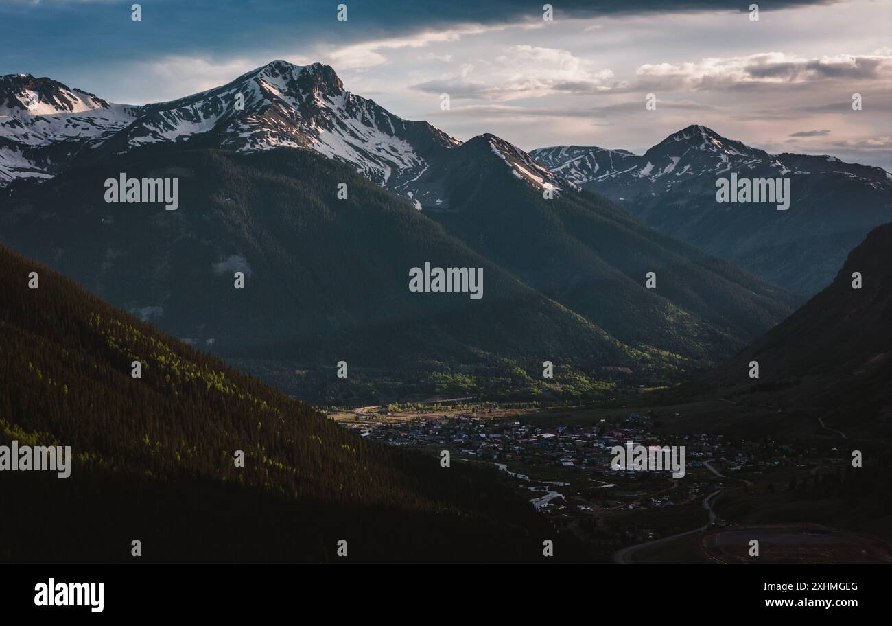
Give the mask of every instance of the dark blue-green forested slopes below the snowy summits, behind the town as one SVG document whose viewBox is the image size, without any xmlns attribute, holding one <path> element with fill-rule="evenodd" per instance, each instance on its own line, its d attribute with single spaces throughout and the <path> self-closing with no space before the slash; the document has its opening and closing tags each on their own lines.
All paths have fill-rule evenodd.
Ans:
<svg viewBox="0 0 892 626">
<path fill-rule="evenodd" d="M 593 194 L 542 200 L 486 139 L 450 152 L 481 176 L 462 186 L 465 170 L 451 175 L 443 197 L 458 214 L 416 210 L 312 152 L 147 147 L 16 190 L 4 199 L 0 240 L 196 347 L 326 402 L 378 398 L 379 387 L 333 387 L 340 360 L 357 375 L 351 382 L 401 381 L 384 383 L 398 398 L 573 397 L 614 384 L 605 372 L 617 368 L 632 372 L 619 383 L 665 383 L 731 355 L 791 309 L 787 294 Z M 179 208 L 104 202 L 103 181 L 122 171 L 178 177 Z M 483 268 L 483 298 L 409 292 L 409 268 L 425 261 Z M 244 290 L 233 287 L 235 271 Z M 644 286 L 648 271 L 655 291 Z M 558 367 L 553 388 L 541 380 L 544 360 Z"/>
</svg>

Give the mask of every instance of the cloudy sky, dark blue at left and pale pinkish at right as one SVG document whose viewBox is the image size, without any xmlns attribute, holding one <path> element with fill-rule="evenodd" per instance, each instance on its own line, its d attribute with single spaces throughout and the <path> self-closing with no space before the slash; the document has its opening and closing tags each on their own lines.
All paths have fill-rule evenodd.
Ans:
<svg viewBox="0 0 892 626">
<path fill-rule="evenodd" d="M 351 92 L 463 141 L 641 153 L 703 124 L 892 170 L 892 0 L 556 0 L 551 21 L 521 0 L 145 0 L 141 21 L 133 4 L 0 0 L 0 74 L 139 104 L 277 59 L 325 62 Z"/>
</svg>

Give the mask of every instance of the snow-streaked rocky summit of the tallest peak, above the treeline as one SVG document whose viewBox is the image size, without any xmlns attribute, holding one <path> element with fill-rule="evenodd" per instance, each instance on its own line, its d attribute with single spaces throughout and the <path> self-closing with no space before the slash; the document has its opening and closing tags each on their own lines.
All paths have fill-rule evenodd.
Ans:
<svg viewBox="0 0 892 626">
<path fill-rule="evenodd" d="M 401 119 L 351 94 L 323 63 L 270 62 L 227 85 L 148 104 L 127 130 L 128 148 L 213 135 L 242 152 L 304 148 L 399 188 L 425 169 L 431 152 L 460 142 L 426 122 Z"/>
</svg>

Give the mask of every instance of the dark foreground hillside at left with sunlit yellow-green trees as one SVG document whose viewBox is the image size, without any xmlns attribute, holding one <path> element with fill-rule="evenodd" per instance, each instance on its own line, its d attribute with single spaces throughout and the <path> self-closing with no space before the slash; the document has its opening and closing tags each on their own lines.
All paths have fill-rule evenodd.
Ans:
<svg viewBox="0 0 892 626">
<path fill-rule="evenodd" d="M 3 246 L 0 340 L 0 445 L 71 450 L 67 478 L 0 474 L 6 562 L 130 561 L 132 540 L 150 562 L 529 561 L 555 533 L 495 468 L 362 440 Z"/>
</svg>

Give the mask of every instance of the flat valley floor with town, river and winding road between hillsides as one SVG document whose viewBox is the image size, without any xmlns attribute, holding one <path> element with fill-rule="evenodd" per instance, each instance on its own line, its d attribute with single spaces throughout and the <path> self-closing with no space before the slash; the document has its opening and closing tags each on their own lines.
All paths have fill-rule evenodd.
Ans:
<svg viewBox="0 0 892 626">
<path fill-rule="evenodd" d="M 634 404 L 644 405 L 634 398 Z M 822 419 L 725 399 L 666 406 L 531 406 L 451 399 L 335 410 L 359 435 L 488 464 L 559 529 L 616 563 L 892 563 L 882 508 L 842 501 L 862 474 Z M 772 436 L 772 432 L 775 434 Z M 686 474 L 616 471 L 610 448 L 680 445 Z M 863 484 L 880 484 L 865 468 Z M 760 556 L 748 556 L 758 540 Z"/>
</svg>

